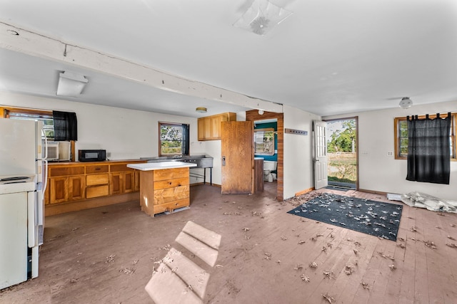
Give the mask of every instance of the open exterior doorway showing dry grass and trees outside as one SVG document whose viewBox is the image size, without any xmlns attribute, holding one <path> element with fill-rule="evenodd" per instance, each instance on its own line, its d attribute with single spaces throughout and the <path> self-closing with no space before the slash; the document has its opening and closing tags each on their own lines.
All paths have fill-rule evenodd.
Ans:
<svg viewBox="0 0 457 304">
<path fill-rule="evenodd" d="M 328 187 L 358 189 L 357 117 L 326 122 Z"/>
</svg>

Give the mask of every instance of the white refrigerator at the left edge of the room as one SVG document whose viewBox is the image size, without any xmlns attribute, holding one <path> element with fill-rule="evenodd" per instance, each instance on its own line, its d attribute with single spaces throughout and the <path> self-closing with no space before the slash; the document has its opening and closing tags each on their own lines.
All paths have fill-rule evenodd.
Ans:
<svg viewBox="0 0 457 304">
<path fill-rule="evenodd" d="M 47 180 L 43 124 L 0 118 L 0 289 L 36 278 Z"/>
</svg>

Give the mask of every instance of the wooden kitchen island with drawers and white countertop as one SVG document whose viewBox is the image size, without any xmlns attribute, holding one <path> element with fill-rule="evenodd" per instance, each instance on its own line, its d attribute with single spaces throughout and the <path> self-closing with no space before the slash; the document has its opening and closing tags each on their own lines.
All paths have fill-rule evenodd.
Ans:
<svg viewBox="0 0 457 304">
<path fill-rule="evenodd" d="M 140 171 L 141 211 L 150 216 L 189 206 L 189 168 L 187 162 L 149 162 L 127 164 Z"/>
</svg>

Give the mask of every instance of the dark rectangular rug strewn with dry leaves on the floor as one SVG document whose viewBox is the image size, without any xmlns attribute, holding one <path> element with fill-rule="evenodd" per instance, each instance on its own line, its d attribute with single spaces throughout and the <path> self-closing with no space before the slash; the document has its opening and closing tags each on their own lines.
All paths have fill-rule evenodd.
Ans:
<svg viewBox="0 0 457 304">
<path fill-rule="evenodd" d="M 287 213 L 396 241 L 402 210 L 398 204 L 324 193 Z"/>
</svg>

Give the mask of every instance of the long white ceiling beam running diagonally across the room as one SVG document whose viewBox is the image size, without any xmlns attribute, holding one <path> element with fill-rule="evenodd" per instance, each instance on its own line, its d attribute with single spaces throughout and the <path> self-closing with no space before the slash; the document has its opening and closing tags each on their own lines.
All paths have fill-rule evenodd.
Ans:
<svg viewBox="0 0 457 304">
<path fill-rule="evenodd" d="M 78 68 L 94 70 L 174 93 L 231 103 L 250 109 L 283 112 L 283 105 L 279 103 L 251 98 L 241 93 L 164 73 L 146 65 L 50 38 L 1 21 L 0 47 L 30 56 L 64 62 Z"/>
</svg>

